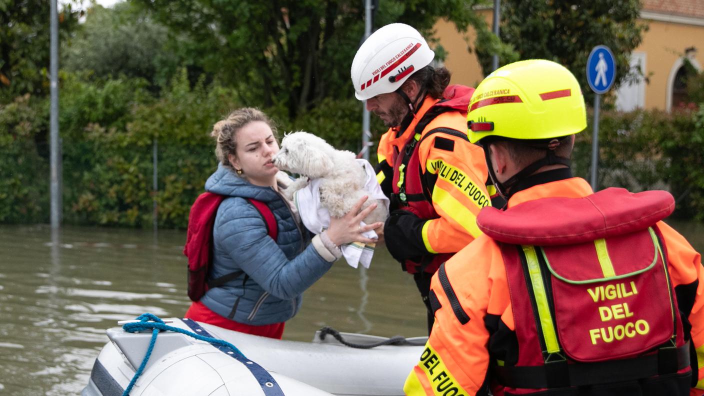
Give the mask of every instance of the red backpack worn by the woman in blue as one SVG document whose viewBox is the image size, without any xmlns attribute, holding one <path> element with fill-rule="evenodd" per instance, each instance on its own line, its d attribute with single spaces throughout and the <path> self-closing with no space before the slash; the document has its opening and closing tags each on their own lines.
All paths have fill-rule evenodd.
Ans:
<svg viewBox="0 0 704 396">
<path fill-rule="evenodd" d="M 188 216 L 188 230 L 183 254 L 188 257 L 188 297 L 198 301 L 211 287 L 222 286 L 241 276 L 244 271 L 234 271 L 219 278 L 208 280 L 210 266 L 213 265 L 213 223 L 218 206 L 227 196 L 203 192 L 191 206 Z M 256 199 L 247 199 L 262 216 L 268 235 L 276 241 L 278 227 L 269 206 Z M 249 278 L 245 275 L 246 278 Z"/>
</svg>

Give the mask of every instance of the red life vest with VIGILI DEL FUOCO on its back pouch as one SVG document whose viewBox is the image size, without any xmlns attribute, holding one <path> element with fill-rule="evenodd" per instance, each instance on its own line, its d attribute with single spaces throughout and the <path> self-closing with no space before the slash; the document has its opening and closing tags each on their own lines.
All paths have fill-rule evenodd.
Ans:
<svg viewBox="0 0 704 396">
<path fill-rule="evenodd" d="M 501 248 L 518 342 L 515 365 L 491 359 L 506 392 L 689 371 L 656 225 L 673 209 L 667 192 L 610 188 L 482 210 L 477 224 Z M 551 223 L 551 213 L 569 221 Z"/>
</svg>

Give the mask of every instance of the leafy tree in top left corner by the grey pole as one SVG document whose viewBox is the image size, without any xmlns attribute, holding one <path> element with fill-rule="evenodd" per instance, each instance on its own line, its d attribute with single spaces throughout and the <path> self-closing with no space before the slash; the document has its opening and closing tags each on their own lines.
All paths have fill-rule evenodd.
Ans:
<svg viewBox="0 0 704 396">
<path fill-rule="evenodd" d="M 0 0 L 0 103 L 21 94 L 49 91 L 49 1 Z M 80 14 L 64 4 L 59 39 L 75 29 Z"/>
</svg>

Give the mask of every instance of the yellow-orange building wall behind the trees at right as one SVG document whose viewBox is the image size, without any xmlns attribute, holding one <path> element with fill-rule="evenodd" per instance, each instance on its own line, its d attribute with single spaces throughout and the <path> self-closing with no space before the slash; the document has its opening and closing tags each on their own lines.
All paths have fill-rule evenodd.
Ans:
<svg viewBox="0 0 704 396">
<path fill-rule="evenodd" d="M 492 10 L 481 10 L 486 22 L 491 26 Z M 643 20 L 640 21 L 641 23 Z M 646 70 L 644 74 L 650 83 L 645 88 L 646 109 L 667 109 L 668 84 L 672 82 L 671 73 L 678 59 L 684 54 L 684 49 L 696 47 L 693 60 L 704 66 L 704 26 L 683 25 L 679 23 L 645 20 L 649 25 L 648 32 L 643 35 L 643 42 L 634 52 L 646 54 Z M 479 66 L 477 54 L 474 53 L 474 30 L 470 27 L 466 33 L 460 33 L 455 25 L 447 20 L 438 20 L 434 26 L 435 37 L 447 51 L 444 61 L 446 68 L 452 73 L 451 84 L 462 84 L 476 87 L 484 75 Z M 472 51 L 470 52 L 470 48 Z"/>
</svg>

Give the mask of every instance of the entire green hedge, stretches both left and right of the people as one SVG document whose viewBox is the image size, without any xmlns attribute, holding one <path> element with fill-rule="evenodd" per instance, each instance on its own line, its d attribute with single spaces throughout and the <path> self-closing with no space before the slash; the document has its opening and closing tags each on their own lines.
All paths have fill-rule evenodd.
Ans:
<svg viewBox="0 0 704 396">
<path fill-rule="evenodd" d="M 191 82 L 185 71 L 160 97 L 146 87 L 134 78 L 61 75 L 65 223 L 151 227 L 156 201 L 160 227 L 187 225 L 189 207 L 217 165 L 212 125 L 243 104 L 231 89 Z M 351 151 L 360 149 L 361 110 L 354 98 L 322 101 L 296 120 L 265 109 L 282 132 L 307 130 Z M 47 99 L 0 105 L 0 223 L 49 221 L 48 120 Z M 601 187 L 665 188 L 678 199 L 677 214 L 704 221 L 704 106 L 603 112 L 600 125 Z M 377 141 L 384 127 L 374 116 L 371 129 Z M 591 125 L 577 136 L 574 171 L 589 178 Z"/>
</svg>

